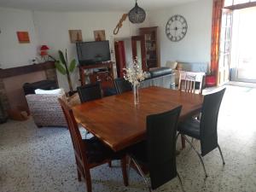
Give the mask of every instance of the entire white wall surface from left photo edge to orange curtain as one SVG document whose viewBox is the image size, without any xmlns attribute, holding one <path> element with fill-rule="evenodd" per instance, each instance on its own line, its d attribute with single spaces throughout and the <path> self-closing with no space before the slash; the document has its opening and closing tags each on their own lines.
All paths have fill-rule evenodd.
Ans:
<svg viewBox="0 0 256 192">
<path fill-rule="evenodd" d="M 118 36 L 113 29 L 123 12 L 45 12 L 0 8 L 0 64 L 3 68 L 27 65 L 38 56 L 38 47 L 49 45 L 51 55 L 67 49 L 69 59 L 76 57 L 75 44 L 69 40 L 69 29 L 81 29 L 84 41 L 94 40 L 94 30 L 104 29 L 107 39 L 137 35 L 138 28 L 159 26 L 161 65 L 166 61 L 210 61 L 212 0 L 200 0 L 165 10 L 150 11 L 142 25 L 133 25 L 128 18 Z M 175 14 L 183 15 L 188 32 L 182 41 L 173 43 L 166 38 L 166 22 Z M 19 44 L 16 32 L 28 31 L 31 44 Z M 112 41 L 110 41 L 112 43 Z M 58 74 L 61 87 L 67 90 L 67 79 Z M 79 73 L 73 74 L 74 88 L 79 85 Z"/>
</svg>

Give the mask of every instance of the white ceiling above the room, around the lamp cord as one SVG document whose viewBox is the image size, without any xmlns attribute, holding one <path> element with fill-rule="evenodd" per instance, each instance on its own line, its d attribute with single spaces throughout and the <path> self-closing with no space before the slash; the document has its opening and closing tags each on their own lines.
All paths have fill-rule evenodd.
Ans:
<svg viewBox="0 0 256 192">
<path fill-rule="evenodd" d="M 138 0 L 146 10 L 162 9 L 195 0 Z M 49 11 L 129 11 L 135 0 L 0 0 L 0 7 Z"/>
</svg>

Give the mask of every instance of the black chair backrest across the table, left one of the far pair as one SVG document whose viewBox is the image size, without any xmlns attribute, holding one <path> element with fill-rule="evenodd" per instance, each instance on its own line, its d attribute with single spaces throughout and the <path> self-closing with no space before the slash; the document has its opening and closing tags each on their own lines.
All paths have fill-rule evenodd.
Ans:
<svg viewBox="0 0 256 192">
<path fill-rule="evenodd" d="M 89 102 L 102 98 L 102 86 L 100 83 L 85 84 L 77 88 L 81 102 Z"/>
</svg>

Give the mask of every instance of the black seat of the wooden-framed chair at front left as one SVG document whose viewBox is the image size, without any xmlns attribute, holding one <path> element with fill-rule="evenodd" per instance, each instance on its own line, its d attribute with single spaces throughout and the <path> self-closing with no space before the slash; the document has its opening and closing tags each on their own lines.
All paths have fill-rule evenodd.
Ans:
<svg viewBox="0 0 256 192">
<path fill-rule="evenodd" d="M 90 139 L 84 139 L 84 144 L 86 143 L 86 154 L 89 160 L 89 163 L 100 163 L 103 160 L 119 160 L 124 156 L 124 152 L 115 153 L 111 148 L 104 145 L 96 137 Z"/>
</svg>

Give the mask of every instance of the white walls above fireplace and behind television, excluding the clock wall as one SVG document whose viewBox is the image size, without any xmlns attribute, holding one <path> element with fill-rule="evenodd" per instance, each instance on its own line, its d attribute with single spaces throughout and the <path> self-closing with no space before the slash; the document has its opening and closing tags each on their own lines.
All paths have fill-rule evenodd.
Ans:
<svg viewBox="0 0 256 192">
<path fill-rule="evenodd" d="M 38 48 L 47 44 L 49 54 L 57 58 L 57 50 L 67 49 L 69 60 L 77 58 L 75 44 L 70 43 L 69 29 L 81 29 L 84 41 L 93 41 L 95 30 L 105 30 L 106 38 L 112 46 L 113 37 L 137 35 L 138 28 L 148 26 L 133 25 L 127 18 L 117 36 L 113 29 L 123 12 L 46 12 L 0 8 L 0 67 L 20 67 L 31 63 L 38 55 Z M 28 31 L 30 44 L 19 44 L 17 31 Z M 59 84 L 68 88 L 65 76 L 58 73 Z M 79 73 L 73 73 L 74 88 L 79 85 Z"/>
</svg>

